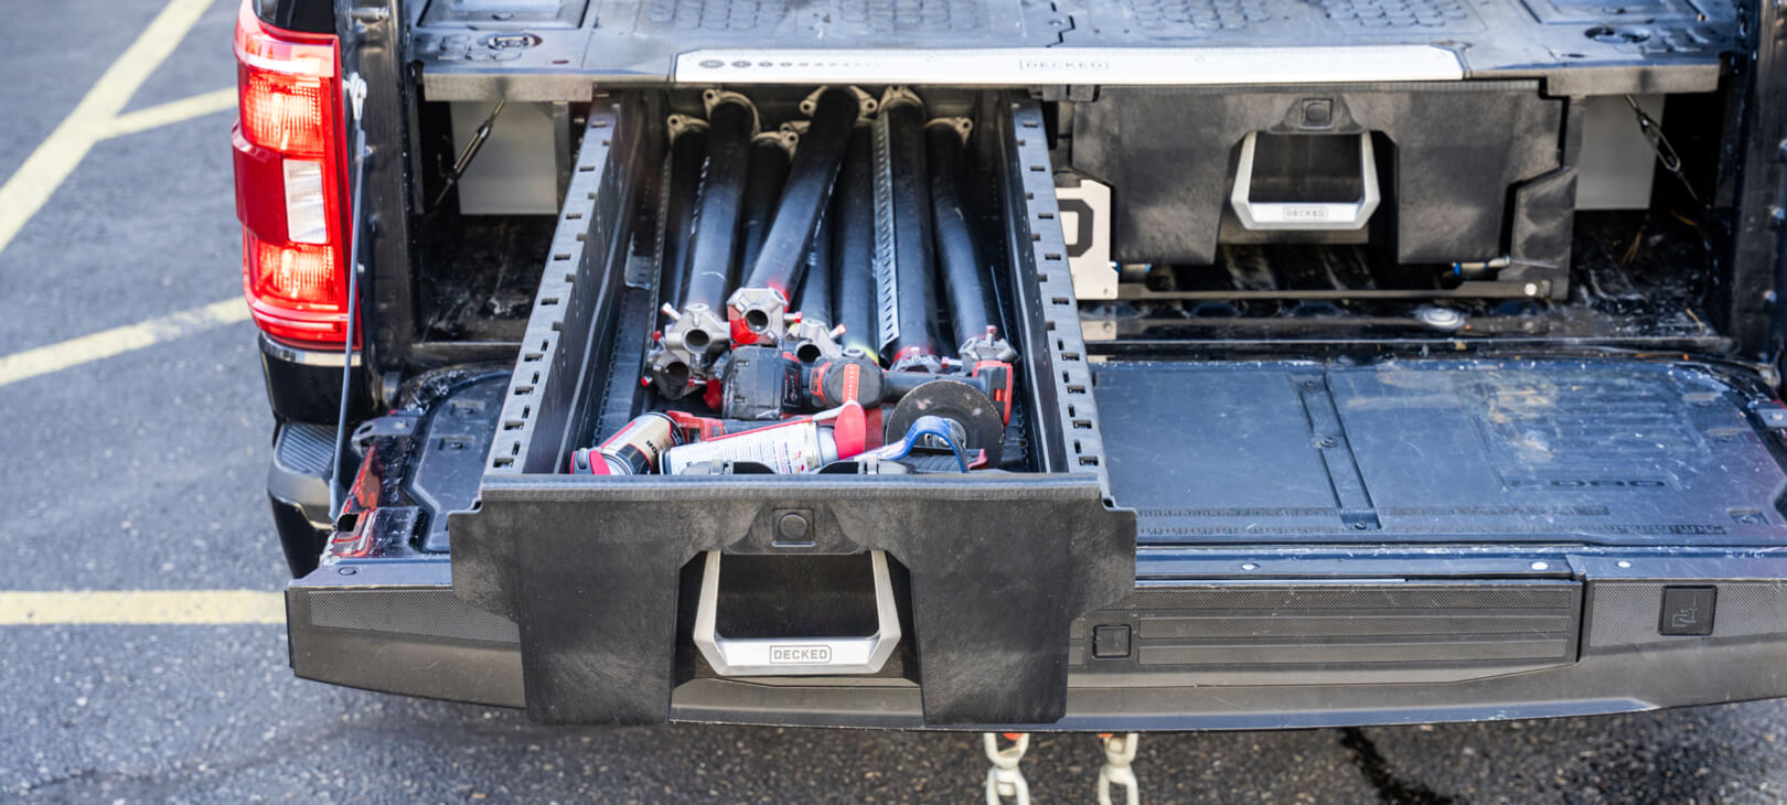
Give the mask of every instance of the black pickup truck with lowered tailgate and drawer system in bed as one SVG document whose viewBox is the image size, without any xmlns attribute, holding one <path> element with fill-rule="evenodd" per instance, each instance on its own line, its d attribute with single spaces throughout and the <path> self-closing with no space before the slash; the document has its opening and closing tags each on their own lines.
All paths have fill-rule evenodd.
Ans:
<svg viewBox="0 0 1787 805">
<path fill-rule="evenodd" d="M 1787 696 L 1783 14 L 245 0 L 291 666 L 554 725 Z"/>
</svg>

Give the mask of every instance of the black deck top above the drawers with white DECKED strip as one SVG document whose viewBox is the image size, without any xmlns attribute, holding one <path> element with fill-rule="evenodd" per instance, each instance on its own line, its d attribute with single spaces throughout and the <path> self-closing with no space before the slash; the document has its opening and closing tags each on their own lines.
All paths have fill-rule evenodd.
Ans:
<svg viewBox="0 0 1787 805">
<path fill-rule="evenodd" d="M 550 20 L 493 23 L 497 5 L 411 11 L 431 100 L 588 100 L 597 82 L 665 80 L 1544 77 L 1555 95 L 1678 93 L 1714 89 L 1719 54 L 1737 46 L 1732 4 L 1710 0 L 561 0 Z"/>
</svg>

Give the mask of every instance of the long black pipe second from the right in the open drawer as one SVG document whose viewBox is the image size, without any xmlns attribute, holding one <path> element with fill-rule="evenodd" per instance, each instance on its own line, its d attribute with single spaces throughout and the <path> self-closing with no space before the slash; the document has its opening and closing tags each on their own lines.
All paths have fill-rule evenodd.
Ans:
<svg viewBox="0 0 1787 805">
<path fill-rule="evenodd" d="M 881 352 L 894 368 L 935 364 L 936 282 L 931 277 L 931 180 L 924 161 L 924 104 L 895 98 L 881 109 L 876 143 L 886 155 L 892 221 L 881 237 L 894 248 L 894 300 L 897 332 L 881 334 Z M 888 300 L 883 300 L 886 303 Z M 931 359 L 931 361 L 926 361 Z"/>
</svg>

